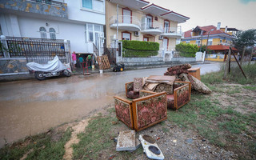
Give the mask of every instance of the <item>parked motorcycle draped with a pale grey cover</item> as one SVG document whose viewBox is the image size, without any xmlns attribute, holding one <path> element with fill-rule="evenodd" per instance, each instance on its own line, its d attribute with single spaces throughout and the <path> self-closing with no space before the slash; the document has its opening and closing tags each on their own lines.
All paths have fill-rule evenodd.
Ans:
<svg viewBox="0 0 256 160">
<path fill-rule="evenodd" d="M 30 72 L 34 73 L 34 77 L 42 81 L 48 77 L 59 76 L 64 74 L 66 77 L 71 75 L 70 63 L 63 64 L 56 55 L 54 60 L 47 64 L 38 64 L 36 62 L 28 62 L 26 64 Z"/>
</svg>

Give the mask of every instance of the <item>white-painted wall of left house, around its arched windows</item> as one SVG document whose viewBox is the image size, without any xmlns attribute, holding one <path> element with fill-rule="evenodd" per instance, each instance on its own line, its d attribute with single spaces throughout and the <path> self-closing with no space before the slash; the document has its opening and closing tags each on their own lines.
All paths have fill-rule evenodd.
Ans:
<svg viewBox="0 0 256 160">
<path fill-rule="evenodd" d="M 39 28 L 43 26 L 46 28 L 47 38 L 50 38 L 49 29 L 54 28 L 57 39 L 70 40 L 71 51 L 86 53 L 91 45 L 86 42 L 85 24 L 105 25 L 105 1 L 93 0 L 93 5 L 96 1 L 102 2 L 102 10 L 99 10 L 99 6 L 92 10 L 85 9 L 82 7 L 82 0 L 58 1 L 65 2 L 65 6 L 58 8 L 26 0 L 1 1 L 0 9 L 4 9 L 0 14 L 2 34 L 11 37 L 41 38 Z"/>
</svg>

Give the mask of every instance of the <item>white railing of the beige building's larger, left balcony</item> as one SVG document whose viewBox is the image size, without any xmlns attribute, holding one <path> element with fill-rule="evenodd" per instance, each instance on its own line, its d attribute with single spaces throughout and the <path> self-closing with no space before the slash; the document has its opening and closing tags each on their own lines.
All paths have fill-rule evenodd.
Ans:
<svg viewBox="0 0 256 160">
<path fill-rule="evenodd" d="M 141 27 L 141 22 L 138 20 L 136 16 L 129 16 L 129 15 L 118 15 L 110 17 L 110 26 L 116 24 L 122 24 L 122 26 L 130 26 L 135 25 L 139 28 Z"/>
</svg>

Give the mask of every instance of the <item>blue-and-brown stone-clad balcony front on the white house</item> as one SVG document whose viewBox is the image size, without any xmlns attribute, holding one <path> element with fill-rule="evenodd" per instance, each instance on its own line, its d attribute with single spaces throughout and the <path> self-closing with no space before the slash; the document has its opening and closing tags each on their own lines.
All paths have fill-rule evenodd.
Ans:
<svg viewBox="0 0 256 160">
<path fill-rule="evenodd" d="M 2 10 L 7 13 L 29 13 L 39 14 L 40 16 L 54 16 L 58 18 L 67 18 L 67 5 L 63 2 L 52 0 L 2 0 Z"/>
</svg>

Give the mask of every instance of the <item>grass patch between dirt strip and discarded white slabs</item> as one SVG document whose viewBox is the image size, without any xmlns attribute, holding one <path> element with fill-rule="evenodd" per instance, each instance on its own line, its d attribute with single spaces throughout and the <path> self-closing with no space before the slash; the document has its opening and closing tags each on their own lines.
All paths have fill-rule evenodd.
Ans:
<svg viewBox="0 0 256 160">
<path fill-rule="evenodd" d="M 101 158 L 102 150 L 107 150 L 108 155 L 113 153 L 116 159 L 134 159 L 134 154 L 142 154 L 142 147 L 130 152 L 116 152 L 116 144 L 113 138 L 116 138 L 118 133 L 115 133 L 114 126 L 111 122 L 116 122 L 117 118 L 98 115 L 90 120 L 86 126 L 86 133 L 78 134 L 80 142 L 73 146 L 74 159 L 103 159 Z M 120 122 L 116 125 L 121 125 Z"/>
</svg>

